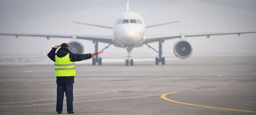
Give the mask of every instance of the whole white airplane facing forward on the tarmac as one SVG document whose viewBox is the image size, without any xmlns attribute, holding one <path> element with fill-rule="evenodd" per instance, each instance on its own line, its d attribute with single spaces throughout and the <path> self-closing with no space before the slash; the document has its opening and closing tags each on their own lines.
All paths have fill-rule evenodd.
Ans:
<svg viewBox="0 0 256 115">
<path fill-rule="evenodd" d="M 84 46 L 77 39 L 84 39 L 93 41 L 95 44 L 95 53 L 99 52 L 98 50 L 98 42 L 108 43 L 109 45 L 103 48 L 100 51 L 105 50 L 110 45 L 114 45 L 119 48 L 126 48 L 128 51 L 128 59 L 125 60 L 126 66 L 133 66 L 134 61 L 131 59 L 131 51 L 133 48 L 142 47 L 144 44 L 149 48 L 153 49 L 158 53 L 158 57 L 155 58 L 155 65 L 165 65 L 165 57 L 162 57 L 162 44 L 165 40 L 168 39 L 179 39 L 175 42 L 174 45 L 174 54 L 180 59 L 186 59 L 192 54 L 192 45 L 189 41 L 187 41 L 186 37 L 196 37 L 196 36 L 206 36 L 209 38 L 210 36 L 215 35 L 228 35 L 228 34 L 251 34 L 256 33 L 256 31 L 247 31 L 247 32 L 215 32 L 215 33 L 201 33 L 201 34 L 172 34 L 172 35 L 161 35 L 161 36 L 145 36 L 145 29 L 152 28 L 161 25 L 172 24 L 180 21 L 174 22 L 166 22 L 160 23 L 157 25 L 149 25 L 145 26 L 145 22 L 143 18 L 137 12 L 129 10 L 129 0 L 126 0 L 126 11 L 119 14 L 116 18 L 116 21 L 113 24 L 113 27 L 104 26 L 104 25 L 96 25 L 96 24 L 88 24 L 84 22 L 74 22 L 76 24 L 82 25 L 90 25 L 99 28 L 107 28 L 113 30 L 113 36 L 88 36 L 88 35 L 64 35 L 64 34 L 8 34 L 8 33 L 0 33 L 0 35 L 4 36 L 38 36 L 38 37 L 57 37 L 57 38 L 71 38 L 72 41 L 69 45 L 69 50 L 73 53 L 83 53 Z M 152 48 L 148 43 L 158 42 L 158 50 Z M 96 55 L 95 58 L 92 59 L 92 65 L 102 65 L 102 58 Z"/>
</svg>

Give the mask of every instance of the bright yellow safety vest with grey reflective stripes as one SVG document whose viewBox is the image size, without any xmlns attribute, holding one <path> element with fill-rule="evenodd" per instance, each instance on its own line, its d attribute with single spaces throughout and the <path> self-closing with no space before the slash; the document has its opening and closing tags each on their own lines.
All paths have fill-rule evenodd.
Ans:
<svg viewBox="0 0 256 115">
<path fill-rule="evenodd" d="M 64 57 L 58 57 L 55 55 L 55 75 L 58 76 L 75 76 L 76 70 L 75 70 L 75 62 L 71 62 L 69 59 L 68 53 Z"/>
</svg>

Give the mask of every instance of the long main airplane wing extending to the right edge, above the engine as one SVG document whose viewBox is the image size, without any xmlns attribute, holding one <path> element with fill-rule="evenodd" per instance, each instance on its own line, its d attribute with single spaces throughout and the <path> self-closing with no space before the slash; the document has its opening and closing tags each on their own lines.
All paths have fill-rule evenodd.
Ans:
<svg viewBox="0 0 256 115">
<path fill-rule="evenodd" d="M 185 37 L 195 37 L 195 36 L 216 36 L 216 35 L 228 35 L 228 34 L 250 34 L 256 33 L 256 31 L 247 31 L 247 32 L 215 32 L 215 33 L 201 33 L 201 34 L 173 34 L 173 35 L 165 35 L 165 36 L 146 36 L 145 44 L 157 41 L 163 41 L 166 39 L 176 39 L 176 38 L 185 38 Z"/>
</svg>

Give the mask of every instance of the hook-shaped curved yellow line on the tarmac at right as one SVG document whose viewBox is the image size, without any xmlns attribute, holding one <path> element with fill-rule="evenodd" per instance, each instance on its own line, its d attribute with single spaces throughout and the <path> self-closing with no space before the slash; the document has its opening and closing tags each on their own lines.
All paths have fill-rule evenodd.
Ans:
<svg viewBox="0 0 256 115">
<path fill-rule="evenodd" d="M 215 87 L 215 86 L 220 86 L 220 85 L 225 85 L 225 84 L 232 84 L 232 83 L 237 83 L 237 81 L 223 83 L 223 84 L 216 84 L 216 85 L 211 85 L 211 86 Z M 191 90 L 196 90 L 196 89 L 191 89 Z M 207 107 L 207 108 L 213 108 L 213 109 L 224 109 L 224 110 L 239 111 L 239 112 L 254 112 L 254 111 L 246 111 L 246 110 L 239 110 L 239 109 L 227 109 L 227 108 L 220 108 L 220 107 L 210 107 L 210 106 L 204 106 L 204 105 L 189 104 L 189 103 L 174 101 L 172 99 L 166 98 L 167 95 L 173 94 L 173 93 L 178 93 L 178 92 L 165 93 L 165 94 L 161 95 L 160 97 L 163 98 L 166 101 L 171 101 L 171 102 L 174 102 L 174 103 L 177 103 L 177 104 L 185 104 L 185 105 L 191 105 L 191 106 L 197 106 L 197 107 Z M 256 112 L 254 112 L 254 113 L 256 113 Z"/>
</svg>

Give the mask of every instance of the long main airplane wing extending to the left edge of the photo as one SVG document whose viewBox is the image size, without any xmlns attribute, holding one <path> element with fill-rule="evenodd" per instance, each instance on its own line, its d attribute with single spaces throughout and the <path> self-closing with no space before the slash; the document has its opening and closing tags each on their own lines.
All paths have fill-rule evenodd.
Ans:
<svg viewBox="0 0 256 115">
<path fill-rule="evenodd" d="M 98 41 L 112 44 L 113 36 L 86 36 L 86 35 L 71 35 L 71 34 L 5 34 L 0 33 L 3 36 L 37 36 L 37 37 L 46 37 L 49 39 L 50 37 L 55 38 L 73 38 L 73 39 L 85 39 L 91 41 Z"/>
</svg>

